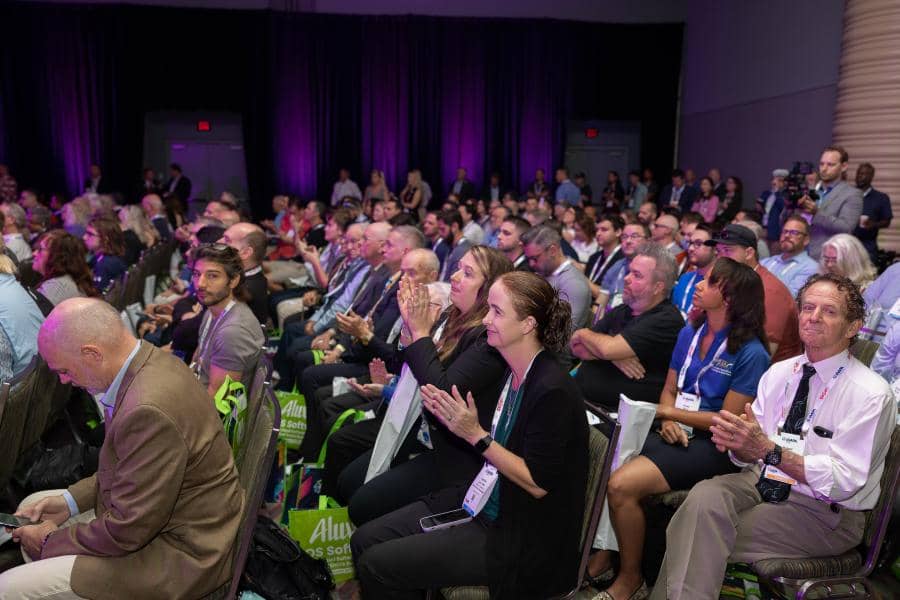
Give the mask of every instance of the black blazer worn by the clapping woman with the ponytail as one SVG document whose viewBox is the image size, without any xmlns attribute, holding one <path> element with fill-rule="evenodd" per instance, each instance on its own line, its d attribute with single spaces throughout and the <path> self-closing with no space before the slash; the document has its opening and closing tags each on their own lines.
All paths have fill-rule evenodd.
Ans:
<svg viewBox="0 0 900 600">
<path fill-rule="evenodd" d="M 547 495 L 535 498 L 500 475 L 500 514 L 487 540 L 492 599 L 549 598 L 575 583 L 588 473 L 584 411 L 575 381 L 552 352 L 541 352 L 505 447 L 524 459 Z"/>
</svg>

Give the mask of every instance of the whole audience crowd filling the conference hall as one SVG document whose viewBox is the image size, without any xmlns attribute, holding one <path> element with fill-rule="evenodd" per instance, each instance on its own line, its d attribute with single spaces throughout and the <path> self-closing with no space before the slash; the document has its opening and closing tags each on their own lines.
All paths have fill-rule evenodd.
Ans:
<svg viewBox="0 0 900 600">
<path fill-rule="evenodd" d="M 0 165 L 0 380 L 39 354 L 105 422 L 96 475 L 20 505 L 28 562 L 0 574 L 0 598 L 226 582 L 246 500 L 213 398 L 249 387 L 264 353 L 276 389 L 305 398 L 291 458 L 327 440 L 323 494 L 356 526 L 363 598 L 565 594 L 584 401 L 615 413 L 621 396 L 655 420 L 609 481 L 618 547 L 591 557 L 597 599 L 651 595 L 643 500 L 673 490 L 690 493 L 653 598 L 718 597 L 729 562 L 853 548 L 898 423 L 900 266 L 877 246 L 892 214 L 875 167 L 850 182 L 848 160 L 829 146 L 757 197 L 715 168 L 611 171 L 596 192 L 538 169 L 522 193 L 465 168 L 440 190 L 411 170 L 397 193 L 378 169 L 364 189 L 340 169 L 324 202 L 278 195 L 257 220 L 231 193 L 191 198 L 177 164 L 127 194 L 92 165 L 68 202 Z M 170 277 L 132 321 L 104 297 L 159 244 L 176 248 Z M 347 408 L 367 416 L 329 437 Z M 464 523 L 422 531 L 460 508 Z"/>
</svg>

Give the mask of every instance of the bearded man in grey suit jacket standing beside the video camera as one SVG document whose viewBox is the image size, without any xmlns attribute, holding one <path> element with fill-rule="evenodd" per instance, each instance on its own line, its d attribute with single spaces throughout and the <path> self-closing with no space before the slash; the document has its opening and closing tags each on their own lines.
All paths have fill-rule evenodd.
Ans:
<svg viewBox="0 0 900 600">
<path fill-rule="evenodd" d="M 836 233 L 853 233 L 862 214 L 862 192 L 842 179 L 847 171 L 847 151 L 828 146 L 819 159 L 818 200 L 800 199 L 800 212 L 809 222 L 809 255 L 816 260 L 822 245 Z"/>
</svg>

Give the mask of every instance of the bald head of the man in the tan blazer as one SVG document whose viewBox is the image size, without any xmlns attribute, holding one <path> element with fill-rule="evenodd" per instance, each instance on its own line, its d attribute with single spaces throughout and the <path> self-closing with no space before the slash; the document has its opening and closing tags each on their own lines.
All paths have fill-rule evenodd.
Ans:
<svg viewBox="0 0 900 600">
<path fill-rule="evenodd" d="M 137 340 L 112 306 L 96 298 L 60 302 L 41 325 L 38 350 L 63 383 L 106 391 Z"/>
</svg>

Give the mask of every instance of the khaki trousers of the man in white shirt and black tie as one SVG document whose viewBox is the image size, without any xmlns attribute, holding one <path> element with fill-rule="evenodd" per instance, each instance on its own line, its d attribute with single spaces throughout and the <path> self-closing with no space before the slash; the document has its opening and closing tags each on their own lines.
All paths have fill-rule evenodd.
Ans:
<svg viewBox="0 0 900 600">
<path fill-rule="evenodd" d="M 833 556 L 859 544 L 865 512 L 835 512 L 796 492 L 781 504 L 763 502 L 758 479 L 754 467 L 694 486 L 666 530 L 652 600 L 718 598 L 729 562 Z"/>
</svg>

